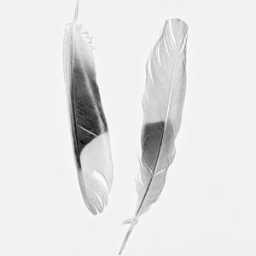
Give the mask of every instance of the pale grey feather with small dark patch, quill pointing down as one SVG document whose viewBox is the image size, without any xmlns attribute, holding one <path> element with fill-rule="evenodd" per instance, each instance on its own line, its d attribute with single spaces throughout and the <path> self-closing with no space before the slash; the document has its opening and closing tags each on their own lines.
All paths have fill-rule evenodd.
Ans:
<svg viewBox="0 0 256 256">
<path fill-rule="evenodd" d="M 147 61 L 137 211 L 125 221 L 131 225 L 119 254 L 138 218 L 158 200 L 175 156 L 174 141 L 181 125 L 186 87 L 187 35 L 188 26 L 182 20 L 166 20 Z"/>
</svg>

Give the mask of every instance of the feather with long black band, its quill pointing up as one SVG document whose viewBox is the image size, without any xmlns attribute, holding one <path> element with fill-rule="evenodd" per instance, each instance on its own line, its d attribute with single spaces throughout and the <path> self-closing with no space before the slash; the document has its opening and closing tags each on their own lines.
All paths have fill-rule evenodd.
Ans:
<svg viewBox="0 0 256 256">
<path fill-rule="evenodd" d="M 78 24 L 78 13 L 79 1 L 73 22 L 66 26 L 64 74 L 79 185 L 86 207 L 97 214 L 108 204 L 113 164 L 91 38 Z"/>
</svg>

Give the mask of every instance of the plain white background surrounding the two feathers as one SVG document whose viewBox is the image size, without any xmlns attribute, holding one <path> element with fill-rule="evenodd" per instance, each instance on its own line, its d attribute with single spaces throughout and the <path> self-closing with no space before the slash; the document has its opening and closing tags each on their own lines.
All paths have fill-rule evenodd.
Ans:
<svg viewBox="0 0 256 256">
<path fill-rule="evenodd" d="M 144 67 L 175 17 L 189 25 L 177 156 L 123 255 L 256 255 L 254 1 L 81 0 L 113 149 L 110 202 L 97 217 L 79 191 L 62 73 L 74 6 L 0 3 L 0 255 L 117 255 L 137 202 Z"/>
</svg>

